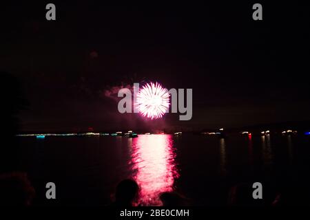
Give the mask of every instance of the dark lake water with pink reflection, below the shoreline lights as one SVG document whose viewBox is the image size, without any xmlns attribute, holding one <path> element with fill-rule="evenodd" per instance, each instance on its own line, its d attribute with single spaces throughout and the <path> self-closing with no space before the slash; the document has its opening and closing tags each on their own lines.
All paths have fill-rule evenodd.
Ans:
<svg viewBox="0 0 310 220">
<path fill-rule="evenodd" d="M 118 181 L 133 178 L 143 205 L 158 206 L 158 194 L 176 190 L 192 205 L 222 206 L 229 188 L 260 181 L 273 199 L 291 179 L 307 179 L 306 135 L 138 135 L 136 138 L 19 137 L 23 163 L 37 191 L 37 205 L 109 204 Z M 56 199 L 45 199 L 45 184 Z"/>
</svg>

